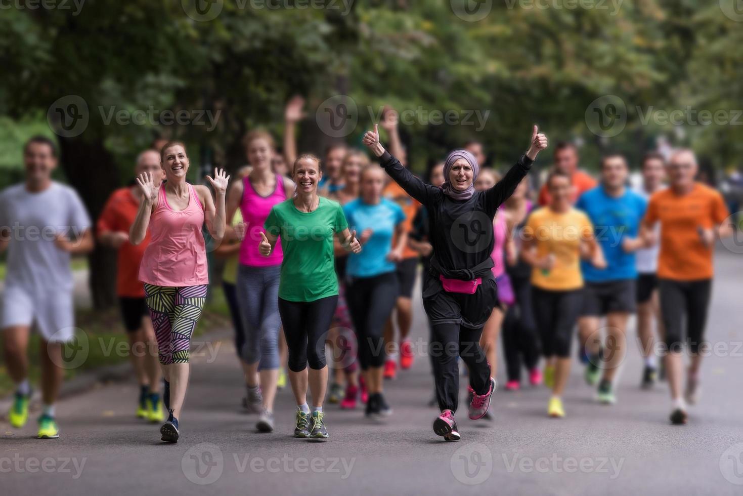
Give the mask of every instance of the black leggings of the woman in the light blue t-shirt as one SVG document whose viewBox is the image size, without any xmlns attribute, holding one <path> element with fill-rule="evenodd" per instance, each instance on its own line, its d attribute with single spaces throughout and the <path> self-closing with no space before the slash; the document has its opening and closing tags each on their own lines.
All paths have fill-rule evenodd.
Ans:
<svg viewBox="0 0 743 496">
<path fill-rule="evenodd" d="M 354 321 L 361 370 L 384 364 L 384 326 L 398 299 L 398 276 L 387 272 L 375 277 L 354 277 L 345 300 Z"/>
</svg>

